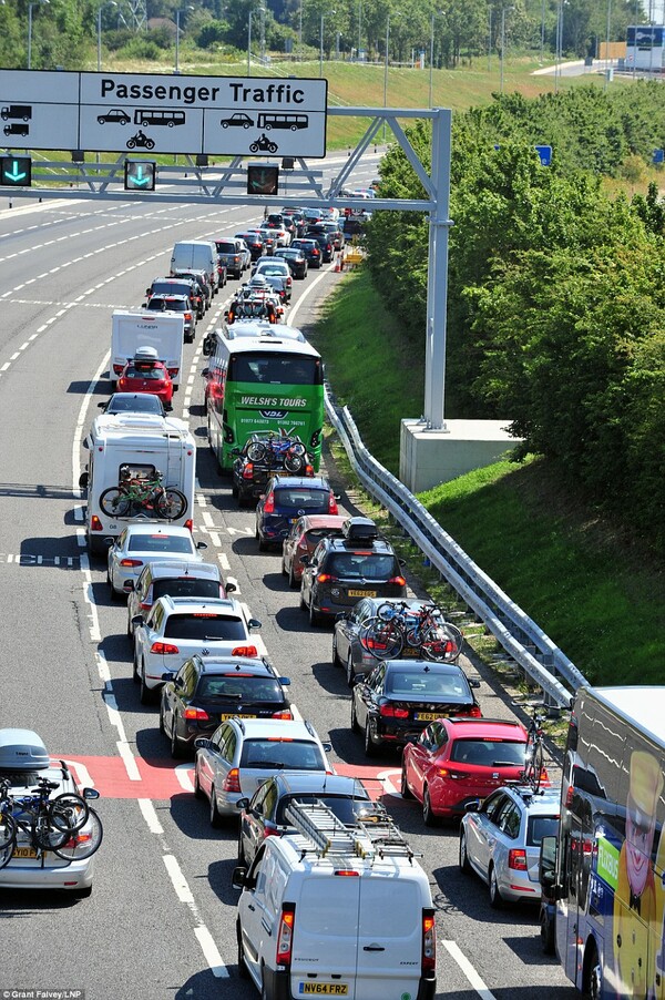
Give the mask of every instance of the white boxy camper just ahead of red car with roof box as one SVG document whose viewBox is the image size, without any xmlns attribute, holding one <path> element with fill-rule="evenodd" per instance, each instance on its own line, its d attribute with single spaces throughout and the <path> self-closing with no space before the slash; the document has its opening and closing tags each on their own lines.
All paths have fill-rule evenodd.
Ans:
<svg viewBox="0 0 665 1000">
<path fill-rule="evenodd" d="M 184 339 L 185 318 L 182 313 L 115 309 L 111 325 L 109 369 L 113 389 L 122 369 L 140 347 L 154 347 L 157 358 L 168 368 L 173 388 L 176 389 L 182 378 Z"/>
</svg>

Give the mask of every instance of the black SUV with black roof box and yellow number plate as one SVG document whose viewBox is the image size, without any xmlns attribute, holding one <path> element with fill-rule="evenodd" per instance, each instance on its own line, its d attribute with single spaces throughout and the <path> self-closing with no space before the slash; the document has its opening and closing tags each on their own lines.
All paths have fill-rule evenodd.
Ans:
<svg viewBox="0 0 665 1000">
<path fill-rule="evenodd" d="M 341 538 L 325 538 L 300 560 L 300 608 L 309 622 L 335 618 L 362 598 L 406 598 L 402 563 L 369 518 L 349 518 Z"/>
</svg>

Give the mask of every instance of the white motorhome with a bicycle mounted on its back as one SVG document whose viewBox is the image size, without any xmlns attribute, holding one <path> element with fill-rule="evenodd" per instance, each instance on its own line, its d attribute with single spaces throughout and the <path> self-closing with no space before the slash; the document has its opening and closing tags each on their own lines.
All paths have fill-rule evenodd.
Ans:
<svg viewBox="0 0 665 1000">
<path fill-rule="evenodd" d="M 106 549 L 104 539 L 116 538 L 130 523 L 158 521 L 150 507 L 132 506 L 126 516 L 108 514 L 100 502 L 105 490 L 117 488 L 122 469 L 129 469 L 134 481 L 154 481 L 162 473 L 162 484 L 184 493 L 187 504 L 182 516 L 170 524 L 192 530 L 196 442 L 182 420 L 155 414 L 117 414 L 98 417 L 83 441 L 88 449 L 88 469 L 79 486 L 88 490 L 85 537 L 91 553 Z"/>
</svg>

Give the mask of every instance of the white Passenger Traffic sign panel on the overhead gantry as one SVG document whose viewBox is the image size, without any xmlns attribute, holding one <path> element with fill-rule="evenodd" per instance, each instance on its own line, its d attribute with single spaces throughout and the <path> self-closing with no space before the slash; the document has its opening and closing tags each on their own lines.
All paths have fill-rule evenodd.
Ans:
<svg viewBox="0 0 665 1000">
<path fill-rule="evenodd" d="M 0 114 L 19 149 L 323 157 L 327 86 L 295 78 L 0 70 Z"/>
</svg>

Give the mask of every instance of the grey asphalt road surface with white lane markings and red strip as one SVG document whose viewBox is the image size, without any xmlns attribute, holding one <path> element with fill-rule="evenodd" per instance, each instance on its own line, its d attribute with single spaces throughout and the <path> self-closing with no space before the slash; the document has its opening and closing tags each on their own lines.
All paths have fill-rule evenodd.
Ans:
<svg viewBox="0 0 665 1000">
<path fill-rule="evenodd" d="M 355 181 L 374 176 L 369 159 Z M 174 765 L 157 711 L 139 702 L 126 611 L 111 603 L 104 563 L 88 558 L 76 484 L 81 438 L 109 395 L 112 310 L 141 304 L 151 279 L 167 273 L 176 239 L 233 234 L 256 216 L 130 198 L 19 204 L 0 211 L 0 726 L 37 729 L 100 789 L 104 843 L 89 899 L 0 890 L 0 996 L 39 988 L 85 990 L 86 1000 L 244 1000 L 256 993 L 236 968 L 237 834 L 212 829 L 206 803 L 192 794 L 192 763 Z M 291 322 L 307 328 L 339 280 L 328 266 L 296 282 Z M 231 288 L 185 346 L 175 397 L 174 414 L 198 442 L 196 537 L 238 579 L 294 701 L 332 742 L 336 766 L 380 778 L 389 810 L 422 851 L 438 910 L 438 996 L 566 1000 L 574 991 L 541 953 L 536 911 L 491 910 L 480 880 L 458 869 L 457 828 L 426 831 L 418 806 L 397 793 L 399 759 L 367 766 L 330 631 L 307 624 L 279 555 L 259 554 L 253 512 L 237 509 L 216 472 L 201 341 Z M 484 714 L 510 711 L 490 683 L 480 700 Z"/>
</svg>

